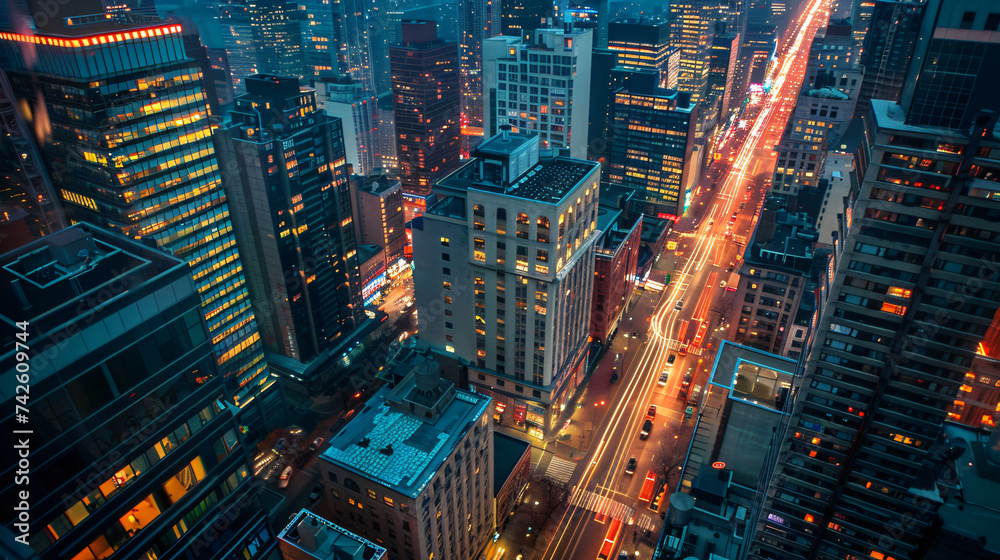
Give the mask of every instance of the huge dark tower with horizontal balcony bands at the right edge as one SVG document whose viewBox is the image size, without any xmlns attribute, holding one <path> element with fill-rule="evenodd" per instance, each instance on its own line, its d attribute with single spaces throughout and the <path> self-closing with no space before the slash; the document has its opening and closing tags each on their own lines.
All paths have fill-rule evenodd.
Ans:
<svg viewBox="0 0 1000 560">
<path fill-rule="evenodd" d="M 751 558 L 923 557 L 947 495 L 947 408 L 998 307 L 1000 143 L 995 114 L 928 128 L 913 108 L 871 103 L 870 165 Z"/>
</svg>

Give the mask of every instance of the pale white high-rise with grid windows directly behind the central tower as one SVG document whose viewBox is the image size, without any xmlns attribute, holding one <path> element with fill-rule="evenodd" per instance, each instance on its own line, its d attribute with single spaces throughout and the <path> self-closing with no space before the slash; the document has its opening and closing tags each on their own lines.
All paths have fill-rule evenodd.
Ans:
<svg viewBox="0 0 1000 560">
<path fill-rule="evenodd" d="M 537 135 L 543 149 L 569 148 L 572 157 L 585 158 L 594 32 L 568 23 L 538 29 L 532 38 L 486 41 L 484 68 L 495 68 L 484 76 L 487 134 L 509 124 L 515 133 Z"/>
</svg>

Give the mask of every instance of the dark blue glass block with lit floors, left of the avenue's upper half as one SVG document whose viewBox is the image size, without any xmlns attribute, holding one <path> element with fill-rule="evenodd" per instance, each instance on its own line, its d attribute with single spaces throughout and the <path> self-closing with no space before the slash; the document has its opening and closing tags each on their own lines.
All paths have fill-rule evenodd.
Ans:
<svg viewBox="0 0 1000 560">
<path fill-rule="evenodd" d="M 668 219 L 690 200 L 690 169 L 698 110 L 688 95 L 631 80 L 615 92 L 606 176 L 639 191 Z"/>
</svg>

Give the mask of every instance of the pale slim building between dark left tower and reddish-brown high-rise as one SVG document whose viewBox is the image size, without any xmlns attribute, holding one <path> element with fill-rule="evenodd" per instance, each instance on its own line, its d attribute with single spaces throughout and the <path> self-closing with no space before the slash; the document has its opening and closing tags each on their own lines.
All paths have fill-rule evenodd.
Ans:
<svg viewBox="0 0 1000 560">
<path fill-rule="evenodd" d="M 324 75 L 314 83 L 317 108 L 340 119 L 347 162 L 354 166 L 354 171 L 363 175 L 380 167 L 375 96 L 348 76 Z"/>
</svg>

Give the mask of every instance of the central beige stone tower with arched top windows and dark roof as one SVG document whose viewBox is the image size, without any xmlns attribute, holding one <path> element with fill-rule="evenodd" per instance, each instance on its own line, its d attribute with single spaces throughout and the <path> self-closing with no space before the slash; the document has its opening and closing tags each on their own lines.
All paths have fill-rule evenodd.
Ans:
<svg viewBox="0 0 1000 560">
<path fill-rule="evenodd" d="M 599 176 L 504 131 L 438 182 L 413 224 L 420 338 L 538 436 L 586 370 Z"/>
</svg>

